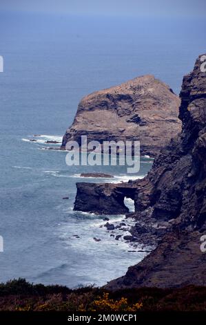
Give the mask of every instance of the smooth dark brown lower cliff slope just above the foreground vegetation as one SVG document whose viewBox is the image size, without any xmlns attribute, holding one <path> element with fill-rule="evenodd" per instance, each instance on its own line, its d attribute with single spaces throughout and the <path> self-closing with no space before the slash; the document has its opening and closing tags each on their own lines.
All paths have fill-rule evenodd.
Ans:
<svg viewBox="0 0 206 325">
<path fill-rule="evenodd" d="M 206 286 L 205 266 L 205 254 L 200 252 L 200 233 L 171 232 L 164 236 L 156 250 L 105 288 Z"/>
</svg>

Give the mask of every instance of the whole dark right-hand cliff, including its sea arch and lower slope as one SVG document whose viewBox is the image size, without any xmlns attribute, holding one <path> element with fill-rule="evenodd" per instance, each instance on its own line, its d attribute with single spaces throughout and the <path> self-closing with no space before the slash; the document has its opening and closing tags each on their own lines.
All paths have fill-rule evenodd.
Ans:
<svg viewBox="0 0 206 325">
<path fill-rule="evenodd" d="M 107 288 L 132 286 L 206 285 L 206 255 L 200 251 L 200 236 L 206 234 L 206 73 L 200 71 L 200 57 L 194 71 L 183 79 L 179 117 L 183 129 L 154 160 L 150 173 L 143 180 L 107 186 L 107 205 L 122 205 L 122 197 L 134 198 L 136 226 L 132 234 L 139 239 L 156 236 L 158 247 L 127 274 Z M 84 197 L 87 184 L 84 184 Z M 90 191 L 90 201 L 103 185 Z M 96 198 L 97 199 L 97 198 Z M 76 202 L 79 201 L 77 192 Z M 92 211 L 87 206 L 88 211 Z M 98 205 L 94 212 L 98 212 Z M 115 213 L 115 209 L 112 213 Z M 158 231 L 157 231 L 158 230 Z"/>
</svg>

